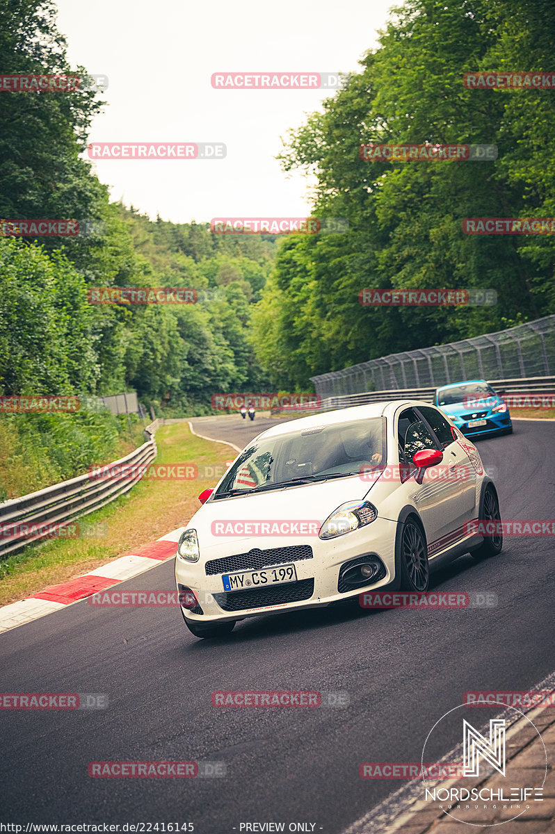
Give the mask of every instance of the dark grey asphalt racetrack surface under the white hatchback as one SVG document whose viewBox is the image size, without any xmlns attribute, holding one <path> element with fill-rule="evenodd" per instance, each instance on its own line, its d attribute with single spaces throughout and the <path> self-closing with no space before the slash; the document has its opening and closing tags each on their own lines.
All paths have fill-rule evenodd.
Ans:
<svg viewBox="0 0 555 834">
<path fill-rule="evenodd" d="M 240 446 L 271 425 L 192 422 Z M 515 425 L 512 436 L 478 443 L 498 468 L 502 516 L 550 519 L 553 423 Z M 403 784 L 361 780 L 361 762 L 420 761 L 431 726 L 465 691 L 526 690 L 555 668 L 554 557 L 552 538 L 512 539 L 492 560 L 464 556 L 434 575 L 438 590 L 497 592 L 497 608 L 485 610 L 311 610 L 245 620 L 225 640 L 199 641 L 174 608 L 82 600 L 8 631 L 0 691 L 105 692 L 109 704 L 2 711 L 0 818 L 189 821 L 195 834 L 239 834 L 241 822 L 255 821 L 343 831 Z M 169 561 L 119 590 L 173 588 Z M 211 692 L 225 689 L 347 691 L 351 704 L 211 706 Z M 452 728 L 429 752 L 440 759 L 459 741 Z M 227 776 L 88 776 L 89 761 L 122 760 L 224 761 Z"/>
</svg>

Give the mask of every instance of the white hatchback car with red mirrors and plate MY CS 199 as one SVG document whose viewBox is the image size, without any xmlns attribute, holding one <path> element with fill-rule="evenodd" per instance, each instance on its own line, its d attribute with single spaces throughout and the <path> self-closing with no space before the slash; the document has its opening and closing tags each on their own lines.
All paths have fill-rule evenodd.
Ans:
<svg viewBox="0 0 555 834">
<path fill-rule="evenodd" d="M 417 400 L 275 425 L 199 500 L 175 560 L 197 637 L 362 591 L 425 591 L 431 565 L 502 549 L 501 525 L 476 524 L 501 520 L 476 446 Z"/>
</svg>

